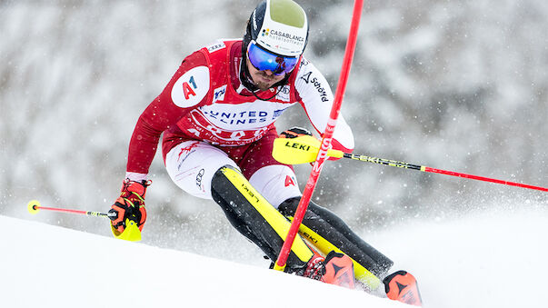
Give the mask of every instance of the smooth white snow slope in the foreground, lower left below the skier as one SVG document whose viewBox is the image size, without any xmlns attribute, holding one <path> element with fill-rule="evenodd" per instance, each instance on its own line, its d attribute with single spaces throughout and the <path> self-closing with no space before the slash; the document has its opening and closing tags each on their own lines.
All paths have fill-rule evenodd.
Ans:
<svg viewBox="0 0 548 308">
<path fill-rule="evenodd" d="M 405 307 L 264 268 L 0 216 L 2 307 Z"/>
</svg>

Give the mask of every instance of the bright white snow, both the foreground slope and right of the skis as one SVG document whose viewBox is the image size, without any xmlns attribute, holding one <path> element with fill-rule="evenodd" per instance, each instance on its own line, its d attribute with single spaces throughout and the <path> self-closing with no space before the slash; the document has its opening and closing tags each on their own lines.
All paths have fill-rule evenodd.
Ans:
<svg viewBox="0 0 548 308">
<path fill-rule="evenodd" d="M 394 226 L 373 240 L 390 243 L 385 253 L 418 278 L 424 307 L 545 307 L 547 218 L 545 206 L 529 204 Z M 2 215 L 0 234 L 3 307 L 405 306 L 257 266 Z"/>
</svg>

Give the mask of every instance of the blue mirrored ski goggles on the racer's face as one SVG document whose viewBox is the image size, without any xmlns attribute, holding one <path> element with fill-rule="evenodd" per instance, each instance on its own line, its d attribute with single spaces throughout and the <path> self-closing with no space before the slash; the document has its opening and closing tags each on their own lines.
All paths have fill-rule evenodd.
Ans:
<svg viewBox="0 0 548 308">
<path fill-rule="evenodd" d="M 255 41 L 251 41 L 247 46 L 247 58 L 254 68 L 259 71 L 270 70 L 274 75 L 291 73 L 299 62 L 298 56 L 274 55 L 258 46 Z"/>
</svg>

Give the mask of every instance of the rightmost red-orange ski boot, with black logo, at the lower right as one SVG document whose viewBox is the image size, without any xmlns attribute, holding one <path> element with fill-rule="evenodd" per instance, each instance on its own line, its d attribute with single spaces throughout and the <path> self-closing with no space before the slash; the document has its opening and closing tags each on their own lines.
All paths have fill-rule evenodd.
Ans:
<svg viewBox="0 0 548 308">
<path fill-rule="evenodd" d="M 384 278 L 383 283 L 389 299 L 414 306 L 423 305 L 418 283 L 411 273 L 405 271 L 392 273 Z"/>
</svg>

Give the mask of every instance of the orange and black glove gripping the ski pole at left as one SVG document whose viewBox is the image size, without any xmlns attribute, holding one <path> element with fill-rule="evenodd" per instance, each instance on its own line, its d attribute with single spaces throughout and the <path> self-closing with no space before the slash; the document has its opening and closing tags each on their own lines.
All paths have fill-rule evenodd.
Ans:
<svg viewBox="0 0 548 308">
<path fill-rule="evenodd" d="M 143 231 L 143 225 L 146 221 L 144 194 L 146 193 L 146 187 L 150 184 L 151 181 L 139 183 L 129 179 L 124 180 L 122 194 L 108 211 L 111 224 L 119 233 L 124 232 L 126 219 L 134 221 L 139 227 L 139 231 Z"/>
</svg>

